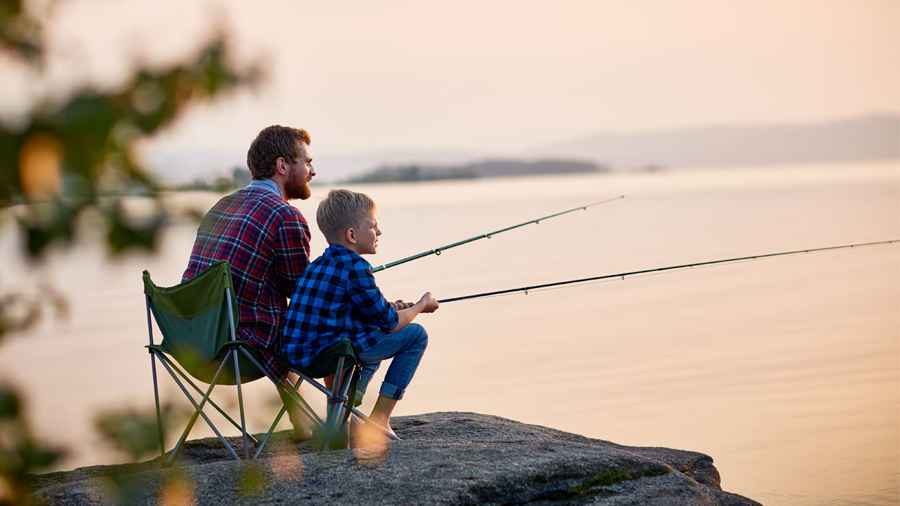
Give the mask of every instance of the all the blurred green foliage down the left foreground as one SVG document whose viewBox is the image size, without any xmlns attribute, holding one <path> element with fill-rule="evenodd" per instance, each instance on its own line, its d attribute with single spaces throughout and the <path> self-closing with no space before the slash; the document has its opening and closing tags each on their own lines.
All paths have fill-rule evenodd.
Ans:
<svg viewBox="0 0 900 506">
<path fill-rule="evenodd" d="M 41 20 L 52 7 L 51 1 L 0 0 L 0 53 L 14 60 L 4 59 L 4 64 L 33 68 L 40 75 L 45 58 Z M 85 212 L 102 218 L 112 252 L 154 248 L 166 208 L 157 183 L 135 156 L 136 143 L 165 129 L 190 105 L 246 86 L 257 74 L 256 68 L 231 62 L 226 37 L 219 35 L 193 58 L 169 68 L 138 70 L 114 89 L 44 97 L 22 121 L 0 124 L 0 213 L 15 216 L 0 226 L 17 223 L 32 258 L 71 243 Z M 130 213 L 123 197 L 134 194 L 153 199 L 153 211 Z M 27 330 L 48 301 L 58 309 L 65 305 L 54 291 L 41 292 L 0 291 L 0 340 Z M 21 406 L 19 394 L 0 384 L 0 506 L 31 504 L 26 475 L 46 469 L 61 455 L 31 436 Z M 166 420 L 179 416 L 166 410 Z M 138 458 L 158 451 L 156 421 L 155 410 L 152 417 L 128 411 L 106 413 L 97 425 Z M 124 478 L 113 476 L 111 483 L 123 503 L 143 493 Z"/>
</svg>

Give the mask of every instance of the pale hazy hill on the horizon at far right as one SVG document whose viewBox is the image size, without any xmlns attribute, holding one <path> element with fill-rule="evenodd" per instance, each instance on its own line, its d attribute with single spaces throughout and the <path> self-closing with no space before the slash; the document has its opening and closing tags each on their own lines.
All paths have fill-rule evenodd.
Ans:
<svg viewBox="0 0 900 506">
<path fill-rule="evenodd" d="M 608 133 L 536 149 L 616 169 L 725 167 L 900 158 L 900 116 L 794 125 L 716 126 Z"/>
</svg>

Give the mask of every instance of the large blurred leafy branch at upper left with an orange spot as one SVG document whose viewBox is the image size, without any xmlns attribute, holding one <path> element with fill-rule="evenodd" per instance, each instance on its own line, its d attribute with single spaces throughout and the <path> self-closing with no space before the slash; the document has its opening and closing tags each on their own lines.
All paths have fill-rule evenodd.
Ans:
<svg viewBox="0 0 900 506">
<path fill-rule="evenodd" d="M 0 12 L 21 7 L 8 0 L 0 5 Z M 19 24 L 0 25 L 0 41 L 18 40 L 17 32 L 2 27 Z M 156 219 L 139 223 L 121 211 L 121 195 L 157 195 L 157 184 L 134 155 L 135 142 L 171 124 L 187 106 L 255 76 L 255 68 L 229 63 L 219 37 L 184 64 L 141 70 L 113 91 L 86 89 L 61 104 L 47 100 L 22 125 L 0 124 L 0 208 L 26 205 L 20 225 L 33 256 L 71 241 L 78 216 L 89 208 L 106 218 L 114 250 L 152 248 L 164 223 L 162 207 Z"/>
</svg>

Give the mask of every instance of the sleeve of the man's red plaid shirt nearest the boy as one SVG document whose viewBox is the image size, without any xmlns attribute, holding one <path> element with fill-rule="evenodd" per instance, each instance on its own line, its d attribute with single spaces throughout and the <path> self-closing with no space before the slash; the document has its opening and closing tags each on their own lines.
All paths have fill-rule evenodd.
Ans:
<svg viewBox="0 0 900 506">
<path fill-rule="evenodd" d="M 310 265 L 310 227 L 300 212 L 284 217 L 282 226 L 275 232 L 274 248 L 275 285 L 286 299 Z"/>
</svg>

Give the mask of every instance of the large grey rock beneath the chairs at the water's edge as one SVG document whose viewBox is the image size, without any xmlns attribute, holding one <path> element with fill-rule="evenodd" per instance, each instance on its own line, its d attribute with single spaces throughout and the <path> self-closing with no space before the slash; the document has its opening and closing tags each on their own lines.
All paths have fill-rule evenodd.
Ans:
<svg viewBox="0 0 900 506">
<path fill-rule="evenodd" d="M 217 438 L 189 441 L 173 468 L 160 459 L 35 475 L 47 504 L 750 505 L 723 492 L 709 456 L 624 447 L 476 413 L 397 417 L 403 440 L 320 452 L 275 434 L 257 461 Z M 229 438 L 238 453 L 239 438 Z M 251 450 L 252 451 L 252 450 Z"/>
</svg>

